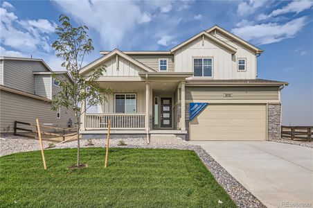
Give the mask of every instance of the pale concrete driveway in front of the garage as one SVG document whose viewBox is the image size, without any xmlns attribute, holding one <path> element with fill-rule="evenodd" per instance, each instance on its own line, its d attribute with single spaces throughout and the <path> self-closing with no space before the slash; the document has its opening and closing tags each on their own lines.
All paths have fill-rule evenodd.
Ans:
<svg viewBox="0 0 313 208">
<path fill-rule="evenodd" d="M 267 207 L 313 207 L 312 148 L 269 141 L 190 143 L 201 145 Z"/>
</svg>

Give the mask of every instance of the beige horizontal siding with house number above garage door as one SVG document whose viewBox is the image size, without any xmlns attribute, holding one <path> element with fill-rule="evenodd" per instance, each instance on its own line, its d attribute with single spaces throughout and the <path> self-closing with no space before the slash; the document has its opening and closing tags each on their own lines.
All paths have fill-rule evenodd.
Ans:
<svg viewBox="0 0 313 208">
<path fill-rule="evenodd" d="M 225 94 L 230 94 L 226 97 Z M 186 87 L 186 101 L 279 100 L 278 87 Z"/>
</svg>

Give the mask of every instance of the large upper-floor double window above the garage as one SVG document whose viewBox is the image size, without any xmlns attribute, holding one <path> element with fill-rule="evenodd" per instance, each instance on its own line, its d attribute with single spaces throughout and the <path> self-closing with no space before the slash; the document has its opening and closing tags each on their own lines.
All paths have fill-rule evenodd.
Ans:
<svg viewBox="0 0 313 208">
<path fill-rule="evenodd" d="M 212 58 L 195 58 L 193 60 L 193 76 L 212 77 L 213 76 L 213 59 Z"/>
</svg>

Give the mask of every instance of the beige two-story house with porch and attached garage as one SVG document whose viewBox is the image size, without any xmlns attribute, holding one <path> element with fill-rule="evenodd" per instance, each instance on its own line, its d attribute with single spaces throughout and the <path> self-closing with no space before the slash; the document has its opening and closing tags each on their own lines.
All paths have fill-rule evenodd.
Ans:
<svg viewBox="0 0 313 208">
<path fill-rule="evenodd" d="M 82 68 L 105 65 L 98 80 L 114 94 L 97 114 L 82 114 L 82 135 L 177 135 L 189 140 L 266 140 L 280 137 L 280 89 L 257 78 L 263 51 L 213 26 L 170 51 L 100 51 Z M 82 109 L 85 104 L 82 103 Z"/>
</svg>

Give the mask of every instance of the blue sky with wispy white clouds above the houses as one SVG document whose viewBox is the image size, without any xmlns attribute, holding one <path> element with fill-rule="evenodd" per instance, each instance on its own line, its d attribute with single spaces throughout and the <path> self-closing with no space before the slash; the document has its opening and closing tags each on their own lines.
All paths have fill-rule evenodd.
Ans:
<svg viewBox="0 0 313 208">
<path fill-rule="evenodd" d="M 54 70 L 51 48 L 60 14 L 89 26 L 95 51 L 168 50 L 218 24 L 265 52 L 258 78 L 282 80 L 283 124 L 313 125 L 313 1 L 2 1 L 0 53 L 43 58 Z"/>
</svg>

